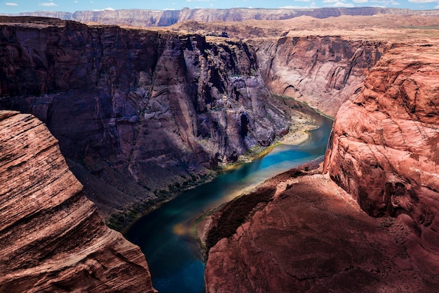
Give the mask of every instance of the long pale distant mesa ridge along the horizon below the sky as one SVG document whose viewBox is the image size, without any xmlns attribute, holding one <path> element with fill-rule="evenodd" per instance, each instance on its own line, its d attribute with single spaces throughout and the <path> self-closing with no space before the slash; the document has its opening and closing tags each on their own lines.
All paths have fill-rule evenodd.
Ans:
<svg viewBox="0 0 439 293">
<path fill-rule="evenodd" d="M 230 8 L 208 9 L 198 8 L 182 10 L 153 11 L 143 9 L 76 11 L 75 13 L 57 11 L 35 11 L 20 13 L 24 16 L 40 16 L 76 20 L 79 22 L 98 22 L 105 25 L 130 25 L 135 27 L 169 26 L 186 20 L 198 22 L 231 22 L 244 20 L 285 20 L 302 15 L 313 18 L 330 18 L 340 15 L 423 15 L 438 16 L 438 10 L 412 11 L 410 9 L 354 7 L 354 8 L 310 8 L 310 9 L 262 9 L 262 8 Z"/>
</svg>

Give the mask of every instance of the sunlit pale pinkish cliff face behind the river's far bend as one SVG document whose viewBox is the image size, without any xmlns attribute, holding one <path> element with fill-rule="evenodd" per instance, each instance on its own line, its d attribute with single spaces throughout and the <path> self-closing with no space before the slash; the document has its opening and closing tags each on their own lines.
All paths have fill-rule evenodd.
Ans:
<svg viewBox="0 0 439 293">
<path fill-rule="evenodd" d="M 254 46 L 270 91 L 309 103 L 332 117 L 360 91 L 370 67 L 386 50 L 381 41 L 318 36 L 284 37 L 277 44 L 271 40 Z"/>
</svg>

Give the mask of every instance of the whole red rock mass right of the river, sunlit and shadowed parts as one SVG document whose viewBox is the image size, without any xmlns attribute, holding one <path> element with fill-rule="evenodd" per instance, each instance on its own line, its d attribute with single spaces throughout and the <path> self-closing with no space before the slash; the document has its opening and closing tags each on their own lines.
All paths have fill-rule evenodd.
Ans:
<svg viewBox="0 0 439 293">
<path fill-rule="evenodd" d="M 268 181 L 237 229 L 233 202 L 212 216 L 207 292 L 438 291 L 437 50 L 390 46 L 340 108 L 324 171 Z"/>
</svg>

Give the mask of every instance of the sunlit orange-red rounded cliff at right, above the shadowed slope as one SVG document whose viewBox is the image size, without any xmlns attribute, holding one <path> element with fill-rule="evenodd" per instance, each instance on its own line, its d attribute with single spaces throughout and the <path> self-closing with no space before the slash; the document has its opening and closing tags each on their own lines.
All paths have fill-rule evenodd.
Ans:
<svg viewBox="0 0 439 293">
<path fill-rule="evenodd" d="M 335 119 L 325 172 L 371 216 L 397 216 L 438 273 L 438 47 L 396 45 Z"/>
</svg>

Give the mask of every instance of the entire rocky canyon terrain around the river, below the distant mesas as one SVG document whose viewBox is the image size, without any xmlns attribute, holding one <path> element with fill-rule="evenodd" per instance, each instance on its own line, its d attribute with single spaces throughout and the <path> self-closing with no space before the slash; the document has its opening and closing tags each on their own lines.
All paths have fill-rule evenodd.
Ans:
<svg viewBox="0 0 439 293">
<path fill-rule="evenodd" d="M 335 117 L 325 157 L 208 213 L 206 292 L 436 292 L 438 22 L 1 16 L 0 291 L 154 292 L 105 223 L 303 137 L 283 96 Z"/>
</svg>

